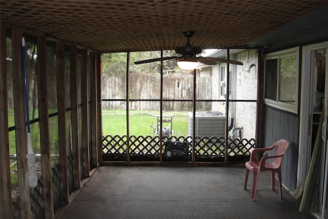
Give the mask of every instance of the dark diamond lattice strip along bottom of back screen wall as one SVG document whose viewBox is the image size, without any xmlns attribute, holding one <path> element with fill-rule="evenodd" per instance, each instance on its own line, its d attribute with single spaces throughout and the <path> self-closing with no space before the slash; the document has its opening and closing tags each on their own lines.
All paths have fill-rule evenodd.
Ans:
<svg viewBox="0 0 328 219">
<path fill-rule="evenodd" d="M 188 142 L 188 162 L 193 161 L 192 136 L 163 136 L 163 142 L 167 140 Z M 127 161 L 127 135 L 103 136 L 103 161 Z M 245 138 L 228 138 L 227 154 L 228 161 L 244 160 L 249 156 L 251 149 L 255 148 L 255 140 Z M 162 151 L 165 149 L 163 146 Z M 226 153 L 225 141 L 222 136 L 195 137 L 195 161 L 196 162 L 224 162 Z M 130 161 L 160 161 L 160 138 L 159 136 L 135 136 L 129 138 Z"/>
</svg>

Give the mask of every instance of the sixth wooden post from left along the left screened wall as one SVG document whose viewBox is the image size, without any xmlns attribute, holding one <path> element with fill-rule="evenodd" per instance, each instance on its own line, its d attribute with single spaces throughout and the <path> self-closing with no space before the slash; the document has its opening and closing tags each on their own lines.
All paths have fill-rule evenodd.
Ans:
<svg viewBox="0 0 328 219">
<path fill-rule="evenodd" d="M 88 121 L 88 51 L 81 50 L 81 107 L 82 107 L 82 148 L 83 148 L 83 175 L 90 176 L 89 162 L 89 121 Z"/>
</svg>

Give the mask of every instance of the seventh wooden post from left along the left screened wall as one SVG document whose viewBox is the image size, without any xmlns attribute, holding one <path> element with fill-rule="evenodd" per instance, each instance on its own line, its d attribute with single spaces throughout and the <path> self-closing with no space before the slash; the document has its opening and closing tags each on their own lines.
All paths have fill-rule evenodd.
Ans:
<svg viewBox="0 0 328 219">
<path fill-rule="evenodd" d="M 96 53 L 90 53 L 92 167 L 98 166 Z"/>
</svg>

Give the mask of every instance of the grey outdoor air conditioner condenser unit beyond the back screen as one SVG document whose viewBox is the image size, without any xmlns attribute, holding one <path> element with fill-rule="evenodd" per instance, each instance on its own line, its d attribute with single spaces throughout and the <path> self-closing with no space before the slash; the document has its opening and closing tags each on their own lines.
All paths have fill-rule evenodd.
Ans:
<svg viewBox="0 0 328 219">
<path fill-rule="evenodd" d="M 224 136 L 226 115 L 221 112 L 200 111 L 195 117 L 195 136 Z M 188 135 L 193 135 L 193 113 L 188 113 Z"/>
</svg>

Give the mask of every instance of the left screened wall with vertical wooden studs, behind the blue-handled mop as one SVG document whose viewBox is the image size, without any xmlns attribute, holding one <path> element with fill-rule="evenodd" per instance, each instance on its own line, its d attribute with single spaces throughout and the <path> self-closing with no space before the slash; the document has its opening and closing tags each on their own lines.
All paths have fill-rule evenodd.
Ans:
<svg viewBox="0 0 328 219">
<path fill-rule="evenodd" d="M 83 136 L 82 126 L 88 127 L 90 124 L 91 127 L 91 119 L 88 116 L 82 117 L 81 114 L 92 113 L 90 108 L 88 110 L 88 105 L 92 105 L 92 102 L 88 98 L 87 90 L 91 88 L 90 78 L 95 68 L 88 70 L 88 76 L 87 68 L 91 68 L 90 59 L 81 60 L 81 57 L 88 56 L 86 49 L 77 50 L 75 46 L 48 41 L 46 37 L 30 36 L 17 29 L 2 29 L 2 31 L 7 32 L 7 37 L 1 38 L 1 41 L 2 45 L 3 41 L 6 42 L 7 51 L 6 49 L 4 51 L 8 57 L 7 71 L 1 72 L 2 75 L 6 74 L 8 79 L 5 87 L 8 89 L 8 97 L 4 96 L 4 99 L 8 103 L 10 121 L 8 123 L 9 147 L 6 148 L 10 155 L 6 158 L 8 158 L 8 163 L 12 164 L 11 177 L 2 179 L 4 182 L 8 181 L 12 188 L 10 200 L 6 200 L 9 203 L 12 202 L 10 210 L 12 213 L 8 215 L 13 218 L 24 216 L 52 218 L 54 212 L 63 203 L 69 202 L 70 195 L 75 189 L 80 188 L 81 181 L 89 176 L 93 168 L 92 165 L 86 165 L 92 161 L 92 152 L 88 150 L 92 148 L 89 144 L 89 139 L 92 138 L 89 137 L 88 131 L 84 135 L 87 138 L 83 140 L 81 137 Z M 29 188 L 28 182 L 24 186 L 22 183 L 17 183 L 22 181 L 19 180 L 19 174 L 27 171 L 26 165 L 22 164 L 22 161 L 26 162 L 26 153 L 22 151 L 24 148 L 19 146 L 26 146 L 25 132 L 27 130 L 25 107 L 22 107 L 25 106 L 24 95 L 20 95 L 25 93 L 22 86 L 23 72 L 20 69 L 22 66 L 19 65 L 22 63 L 20 60 L 22 36 L 26 41 L 29 122 L 33 152 L 36 153 L 35 165 L 38 177 L 37 186 L 34 188 Z M 72 78 L 72 74 L 75 78 Z M 19 84 L 17 84 L 18 81 Z M 75 86 L 74 83 L 76 83 Z M 82 95 L 82 87 L 86 91 L 85 96 Z M 13 89 L 16 92 L 12 92 Z M 74 101 L 72 101 L 72 94 L 76 97 L 73 98 Z M 21 107 L 15 108 L 15 105 L 18 105 L 17 102 Z M 95 102 L 93 100 L 93 103 Z M 74 108 L 74 105 L 77 107 Z M 76 115 L 77 120 L 72 121 L 72 115 Z M 23 122 L 17 124 L 15 118 Z M 20 131 L 17 132 L 17 129 Z M 74 142 L 72 140 L 74 137 L 79 140 Z M 86 142 L 85 145 L 82 145 L 84 142 Z"/>
</svg>

